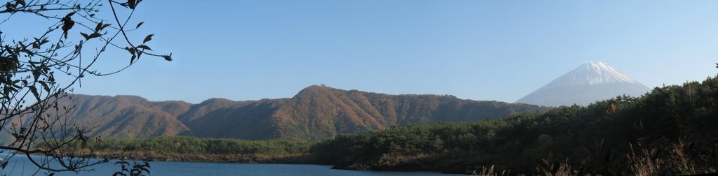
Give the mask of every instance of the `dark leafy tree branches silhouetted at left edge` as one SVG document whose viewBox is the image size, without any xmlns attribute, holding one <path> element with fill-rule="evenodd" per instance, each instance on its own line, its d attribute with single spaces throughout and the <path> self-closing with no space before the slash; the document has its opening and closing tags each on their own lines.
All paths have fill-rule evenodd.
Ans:
<svg viewBox="0 0 718 176">
<path fill-rule="evenodd" d="M 88 137 L 95 127 L 67 122 L 74 107 L 67 103 L 68 92 L 85 76 L 116 74 L 144 55 L 172 60 L 172 54 L 152 53 L 147 43 L 154 34 L 130 39 L 143 24 L 129 24 L 141 0 L 120 1 L 9 0 L 0 6 L 0 170 L 16 155 L 48 172 L 88 170 L 113 159 L 75 157 L 92 156 L 93 147 L 85 144 L 100 137 Z M 111 12 L 98 15 L 101 11 Z M 29 19 L 19 16 L 41 19 L 47 29 L 29 36 L 6 34 L 3 26 Z M 129 52 L 129 64 L 107 73 L 93 67 L 108 49 Z M 63 147 L 77 141 L 83 145 Z"/>
</svg>

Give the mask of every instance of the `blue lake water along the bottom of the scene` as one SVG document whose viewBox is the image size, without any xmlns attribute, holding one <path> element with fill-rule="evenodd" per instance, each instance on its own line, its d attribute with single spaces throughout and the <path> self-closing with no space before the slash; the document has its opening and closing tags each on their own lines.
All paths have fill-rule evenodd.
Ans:
<svg viewBox="0 0 718 176">
<path fill-rule="evenodd" d="M 437 172 L 376 172 L 333 170 L 330 165 L 236 164 L 213 162 L 150 162 L 151 175 L 444 175 Z M 112 175 L 120 169 L 113 162 L 93 167 L 90 172 L 60 172 L 56 175 Z M 37 172 L 27 157 L 15 156 L 0 175 L 46 175 Z"/>
</svg>

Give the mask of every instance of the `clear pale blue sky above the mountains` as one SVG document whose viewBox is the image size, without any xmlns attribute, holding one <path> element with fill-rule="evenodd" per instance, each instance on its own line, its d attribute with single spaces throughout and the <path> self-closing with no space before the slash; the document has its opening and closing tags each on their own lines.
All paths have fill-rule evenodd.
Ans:
<svg viewBox="0 0 718 176">
<path fill-rule="evenodd" d="M 133 37 L 155 34 L 149 45 L 174 60 L 143 57 L 74 92 L 198 103 L 325 84 L 515 102 L 589 61 L 660 87 L 718 73 L 715 9 L 718 1 L 142 1 Z M 102 59 L 97 68 L 113 70 L 129 55 Z"/>
</svg>

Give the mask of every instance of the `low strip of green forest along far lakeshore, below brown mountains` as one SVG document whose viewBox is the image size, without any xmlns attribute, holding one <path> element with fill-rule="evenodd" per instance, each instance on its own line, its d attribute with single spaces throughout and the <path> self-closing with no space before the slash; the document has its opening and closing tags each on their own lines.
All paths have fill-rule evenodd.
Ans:
<svg viewBox="0 0 718 176">
<path fill-rule="evenodd" d="M 129 157 L 137 160 L 312 163 L 314 159 L 309 155 L 309 151 L 316 143 L 197 137 L 114 138 L 87 142 L 77 140 L 63 146 L 60 152 L 85 157 Z M 47 145 L 43 143 L 37 147 Z"/>
</svg>

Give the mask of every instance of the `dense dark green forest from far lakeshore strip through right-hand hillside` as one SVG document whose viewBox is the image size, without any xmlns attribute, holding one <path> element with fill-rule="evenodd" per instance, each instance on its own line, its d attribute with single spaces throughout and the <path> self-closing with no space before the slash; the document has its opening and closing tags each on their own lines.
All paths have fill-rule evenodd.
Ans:
<svg viewBox="0 0 718 176">
<path fill-rule="evenodd" d="M 655 88 L 587 107 L 477 122 L 418 124 L 322 142 L 157 137 L 104 140 L 99 150 L 286 154 L 354 170 L 516 175 L 718 172 L 718 79 Z"/>
</svg>

